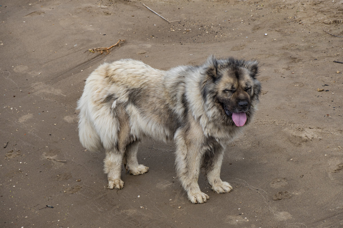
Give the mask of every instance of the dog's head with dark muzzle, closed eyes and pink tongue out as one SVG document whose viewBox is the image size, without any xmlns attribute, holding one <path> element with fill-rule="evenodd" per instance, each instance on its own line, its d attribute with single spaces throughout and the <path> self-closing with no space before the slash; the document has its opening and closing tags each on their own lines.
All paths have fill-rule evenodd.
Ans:
<svg viewBox="0 0 343 228">
<path fill-rule="evenodd" d="M 222 108 L 221 113 L 231 118 L 236 126 L 243 126 L 255 111 L 261 92 L 261 84 L 256 79 L 257 61 L 210 56 L 205 66 L 213 98 L 218 108 Z"/>
</svg>

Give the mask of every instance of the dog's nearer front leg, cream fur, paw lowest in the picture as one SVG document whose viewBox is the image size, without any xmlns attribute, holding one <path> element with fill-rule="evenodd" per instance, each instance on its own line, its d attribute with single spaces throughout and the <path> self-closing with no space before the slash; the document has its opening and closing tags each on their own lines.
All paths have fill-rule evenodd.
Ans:
<svg viewBox="0 0 343 228">
<path fill-rule="evenodd" d="M 183 144 L 182 141 L 184 140 L 178 143 Z M 187 144 L 187 146 L 180 144 L 177 145 L 176 167 L 181 185 L 186 190 L 188 199 L 192 203 L 204 203 L 210 197 L 200 190 L 198 184 L 202 158 L 200 148 L 195 146 L 194 143 Z"/>
</svg>

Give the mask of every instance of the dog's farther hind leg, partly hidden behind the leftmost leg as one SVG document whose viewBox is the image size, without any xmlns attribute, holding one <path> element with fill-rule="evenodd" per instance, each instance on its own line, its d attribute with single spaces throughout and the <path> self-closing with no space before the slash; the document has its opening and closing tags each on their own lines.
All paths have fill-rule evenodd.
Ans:
<svg viewBox="0 0 343 228">
<path fill-rule="evenodd" d="M 136 140 L 126 146 L 125 158 L 126 164 L 125 169 L 130 172 L 132 175 L 139 175 L 146 173 L 149 170 L 149 167 L 138 164 L 137 160 L 137 151 L 138 151 L 139 140 Z"/>
</svg>

